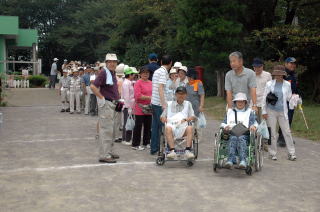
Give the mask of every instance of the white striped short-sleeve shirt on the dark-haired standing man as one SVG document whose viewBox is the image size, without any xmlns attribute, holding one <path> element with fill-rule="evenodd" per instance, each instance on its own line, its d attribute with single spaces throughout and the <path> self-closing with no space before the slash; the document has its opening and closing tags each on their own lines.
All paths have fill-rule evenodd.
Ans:
<svg viewBox="0 0 320 212">
<path fill-rule="evenodd" d="M 152 99 L 151 99 L 152 104 L 161 106 L 160 96 L 159 96 L 160 84 L 164 85 L 164 98 L 166 99 L 165 87 L 168 79 L 169 79 L 169 74 L 165 67 L 161 66 L 159 69 L 157 69 L 154 72 L 152 77 Z"/>
</svg>

